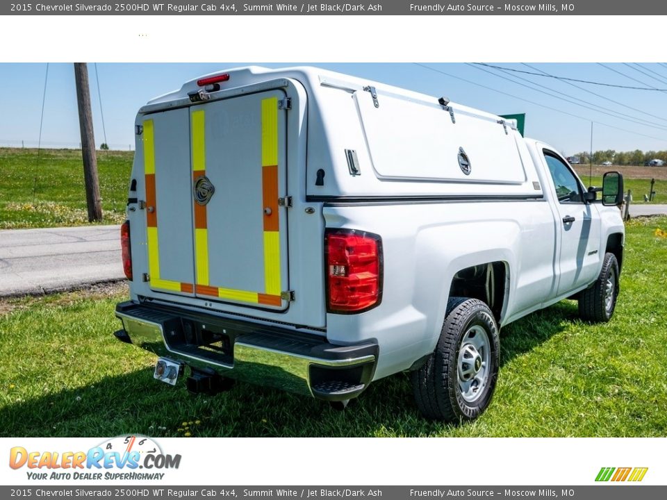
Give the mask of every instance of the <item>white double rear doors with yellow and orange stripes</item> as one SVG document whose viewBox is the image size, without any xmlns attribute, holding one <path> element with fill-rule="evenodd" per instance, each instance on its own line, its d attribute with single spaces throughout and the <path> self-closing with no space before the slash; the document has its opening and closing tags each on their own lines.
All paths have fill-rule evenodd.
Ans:
<svg viewBox="0 0 667 500">
<path fill-rule="evenodd" d="M 288 290 L 283 97 L 271 90 L 147 115 L 151 289 L 288 306 L 281 298 Z"/>
</svg>

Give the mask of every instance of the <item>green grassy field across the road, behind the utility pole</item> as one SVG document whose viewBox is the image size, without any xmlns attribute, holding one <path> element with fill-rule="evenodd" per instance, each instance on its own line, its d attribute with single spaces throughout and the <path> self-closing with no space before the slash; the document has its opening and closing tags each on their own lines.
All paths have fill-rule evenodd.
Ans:
<svg viewBox="0 0 667 500">
<path fill-rule="evenodd" d="M 104 221 L 120 224 L 133 151 L 97 151 Z M 81 151 L 0 148 L 0 229 L 88 224 Z"/>
</svg>

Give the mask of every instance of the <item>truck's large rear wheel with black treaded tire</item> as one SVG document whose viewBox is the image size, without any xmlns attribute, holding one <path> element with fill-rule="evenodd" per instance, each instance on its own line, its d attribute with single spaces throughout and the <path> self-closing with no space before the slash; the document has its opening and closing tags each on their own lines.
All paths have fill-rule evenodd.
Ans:
<svg viewBox="0 0 667 500">
<path fill-rule="evenodd" d="M 486 342 L 482 340 L 482 333 L 486 335 Z M 476 337 L 484 344 L 484 349 L 477 351 L 479 365 L 474 353 L 470 355 L 475 351 L 470 351 L 470 346 Z M 499 353 L 498 328 L 488 306 L 477 299 L 451 297 L 447 301 L 445 322 L 434 353 L 422 367 L 411 373 L 415 402 L 422 415 L 446 422 L 463 422 L 479 417 L 493 397 Z M 466 356 L 471 363 L 467 363 Z M 468 373 L 461 375 L 459 365 Z M 484 374 L 479 377 L 484 378 L 484 382 L 479 383 L 477 375 L 482 368 Z M 471 370 L 476 370 L 474 377 L 470 376 Z"/>
</svg>

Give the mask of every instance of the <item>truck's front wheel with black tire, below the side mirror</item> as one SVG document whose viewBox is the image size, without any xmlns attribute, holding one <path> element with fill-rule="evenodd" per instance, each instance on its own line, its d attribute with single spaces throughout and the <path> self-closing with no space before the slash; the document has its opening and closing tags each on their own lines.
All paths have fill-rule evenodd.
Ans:
<svg viewBox="0 0 667 500">
<path fill-rule="evenodd" d="M 614 253 L 605 253 L 602 270 L 590 288 L 579 292 L 579 317 L 588 322 L 606 323 L 614 315 L 618 297 L 618 261 Z"/>
</svg>

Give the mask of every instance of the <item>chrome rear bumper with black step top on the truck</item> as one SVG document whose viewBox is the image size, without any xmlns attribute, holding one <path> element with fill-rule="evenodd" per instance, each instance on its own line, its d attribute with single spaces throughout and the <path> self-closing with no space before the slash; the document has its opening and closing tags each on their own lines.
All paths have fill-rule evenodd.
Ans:
<svg viewBox="0 0 667 500">
<path fill-rule="evenodd" d="M 117 338 L 157 356 L 328 401 L 359 396 L 377 361 L 374 343 L 335 346 L 317 335 L 178 308 L 124 302 L 116 317 L 124 328 Z"/>
</svg>

